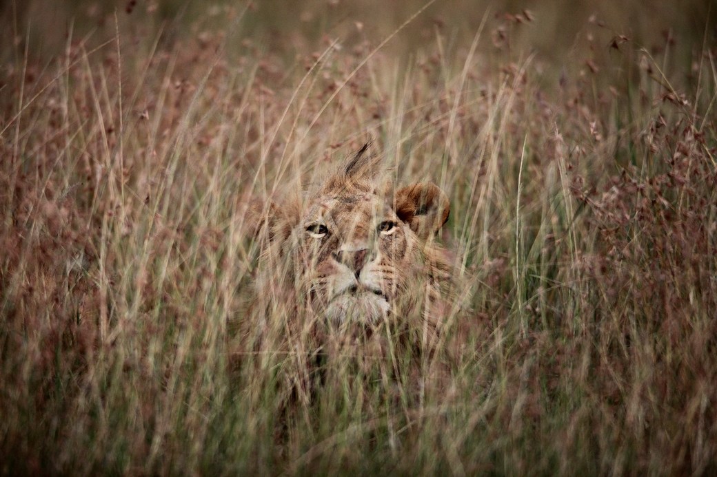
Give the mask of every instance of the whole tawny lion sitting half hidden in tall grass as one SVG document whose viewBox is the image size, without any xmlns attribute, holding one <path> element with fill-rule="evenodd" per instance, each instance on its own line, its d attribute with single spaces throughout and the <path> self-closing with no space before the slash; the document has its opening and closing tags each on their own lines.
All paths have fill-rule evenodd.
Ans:
<svg viewBox="0 0 717 477">
<path fill-rule="evenodd" d="M 377 372 L 411 374 L 417 389 L 435 368 L 426 358 L 455 317 L 455 270 L 436 240 L 450 201 L 429 182 L 395 188 L 381 170 L 366 144 L 313 191 L 255 213 L 261 253 L 237 355 L 252 362 L 247 388 L 283 395 L 277 415 L 333 377 L 356 376 L 361 392 Z"/>
</svg>

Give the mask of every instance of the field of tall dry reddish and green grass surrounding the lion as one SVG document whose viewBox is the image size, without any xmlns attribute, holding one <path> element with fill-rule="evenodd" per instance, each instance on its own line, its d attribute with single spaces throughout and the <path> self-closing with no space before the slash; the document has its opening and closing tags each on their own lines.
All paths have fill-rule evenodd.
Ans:
<svg viewBox="0 0 717 477">
<path fill-rule="evenodd" d="M 0 473 L 717 473 L 713 1 L 65 3 L 0 3 Z M 366 140 L 451 357 L 288 400 L 247 209 Z"/>
</svg>

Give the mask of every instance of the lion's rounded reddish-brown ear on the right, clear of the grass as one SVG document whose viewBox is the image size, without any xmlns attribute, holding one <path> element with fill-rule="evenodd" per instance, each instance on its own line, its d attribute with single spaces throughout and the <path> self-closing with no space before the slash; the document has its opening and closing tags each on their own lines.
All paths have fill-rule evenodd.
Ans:
<svg viewBox="0 0 717 477">
<path fill-rule="evenodd" d="M 394 210 L 419 238 L 427 240 L 448 220 L 450 201 L 438 186 L 422 182 L 400 188 Z"/>
</svg>

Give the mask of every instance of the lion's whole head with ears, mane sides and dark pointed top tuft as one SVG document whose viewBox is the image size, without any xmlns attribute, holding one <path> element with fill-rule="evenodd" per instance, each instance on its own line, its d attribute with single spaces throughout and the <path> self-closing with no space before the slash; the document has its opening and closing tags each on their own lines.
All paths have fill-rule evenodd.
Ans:
<svg viewBox="0 0 717 477">
<path fill-rule="evenodd" d="M 364 146 L 303 200 L 267 209 L 260 294 L 293 289 L 297 306 L 338 324 L 402 317 L 437 299 L 449 266 L 434 236 L 448 198 L 432 183 L 394 188 L 379 169 Z"/>
</svg>

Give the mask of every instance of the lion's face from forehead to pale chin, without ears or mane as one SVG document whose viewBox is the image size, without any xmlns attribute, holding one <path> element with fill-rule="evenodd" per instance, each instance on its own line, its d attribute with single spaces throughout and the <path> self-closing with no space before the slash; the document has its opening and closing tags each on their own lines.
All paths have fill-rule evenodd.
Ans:
<svg viewBox="0 0 717 477">
<path fill-rule="evenodd" d="M 299 233 L 310 304 L 328 319 L 376 322 L 405 289 L 416 236 L 376 193 L 319 198 Z"/>
</svg>

